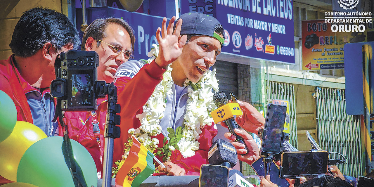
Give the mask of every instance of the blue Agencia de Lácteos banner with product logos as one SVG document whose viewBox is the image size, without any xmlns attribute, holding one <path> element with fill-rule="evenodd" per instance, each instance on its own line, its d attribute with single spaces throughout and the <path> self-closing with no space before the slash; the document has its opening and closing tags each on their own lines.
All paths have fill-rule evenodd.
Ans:
<svg viewBox="0 0 374 187">
<path fill-rule="evenodd" d="M 222 51 L 295 64 L 292 0 L 184 0 L 181 14 L 214 16 L 225 28 Z"/>
</svg>

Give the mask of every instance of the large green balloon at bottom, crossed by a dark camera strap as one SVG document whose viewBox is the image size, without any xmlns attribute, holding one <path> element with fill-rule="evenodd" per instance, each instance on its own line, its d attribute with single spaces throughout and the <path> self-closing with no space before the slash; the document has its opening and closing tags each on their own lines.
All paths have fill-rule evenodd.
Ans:
<svg viewBox="0 0 374 187">
<path fill-rule="evenodd" d="M 62 137 L 49 137 L 31 145 L 19 162 L 17 182 L 39 187 L 74 186 L 63 155 L 62 140 Z M 90 153 L 83 145 L 74 140 L 70 141 L 76 166 L 81 169 L 87 186 L 97 186 L 96 165 Z"/>
</svg>

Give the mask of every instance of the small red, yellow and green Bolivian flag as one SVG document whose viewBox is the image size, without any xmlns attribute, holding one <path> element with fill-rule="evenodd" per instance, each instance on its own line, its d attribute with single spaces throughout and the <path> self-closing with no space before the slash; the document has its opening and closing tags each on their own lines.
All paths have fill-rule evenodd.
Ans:
<svg viewBox="0 0 374 187">
<path fill-rule="evenodd" d="M 132 138 L 129 156 L 116 175 L 116 187 L 139 187 L 154 172 L 153 157 L 136 138 Z"/>
</svg>

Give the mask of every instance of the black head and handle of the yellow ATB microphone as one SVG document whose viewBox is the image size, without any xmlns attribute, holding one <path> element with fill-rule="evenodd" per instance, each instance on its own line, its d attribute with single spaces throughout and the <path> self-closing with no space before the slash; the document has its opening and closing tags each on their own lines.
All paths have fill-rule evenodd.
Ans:
<svg viewBox="0 0 374 187">
<path fill-rule="evenodd" d="M 222 91 L 214 93 L 213 101 L 218 108 L 226 105 L 229 102 L 229 100 L 227 99 L 227 95 Z M 243 138 L 234 132 L 234 129 L 239 129 L 239 125 L 236 123 L 234 117 L 230 117 L 229 119 L 225 120 L 225 123 L 227 125 L 227 128 L 229 128 L 230 133 L 236 137 L 235 141 L 244 144 L 244 149 L 248 153 L 248 149 L 243 141 Z"/>
</svg>

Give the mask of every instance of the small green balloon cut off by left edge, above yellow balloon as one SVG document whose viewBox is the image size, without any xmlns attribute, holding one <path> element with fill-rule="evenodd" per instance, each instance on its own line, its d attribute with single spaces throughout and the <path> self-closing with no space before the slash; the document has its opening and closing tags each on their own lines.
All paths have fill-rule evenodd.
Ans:
<svg viewBox="0 0 374 187">
<path fill-rule="evenodd" d="M 0 90 L 0 142 L 12 133 L 17 121 L 17 110 L 12 98 Z"/>
</svg>

